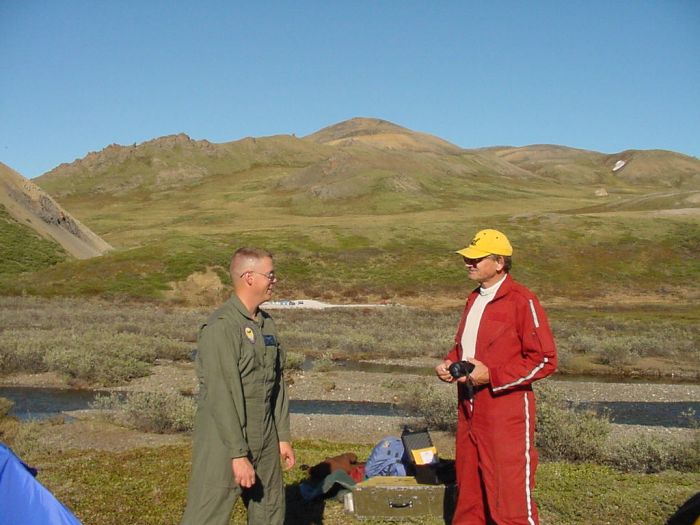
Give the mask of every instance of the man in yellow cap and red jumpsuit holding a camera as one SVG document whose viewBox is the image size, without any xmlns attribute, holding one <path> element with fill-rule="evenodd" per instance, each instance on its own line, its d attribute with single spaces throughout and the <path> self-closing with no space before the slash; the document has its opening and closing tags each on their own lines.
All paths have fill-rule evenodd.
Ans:
<svg viewBox="0 0 700 525">
<path fill-rule="evenodd" d="M 454 348 L 435 368 L 458 390 L 452 523 L 536 525 L 532 382 L 556 369 L 552 332 L 537 297 L 508 273 L 513 248 L 503 233 L 482 230 L 457 253 L 480 286 L 467 299 Z M 473 370 L 450 373 L 458 361 Z"/>
</svg>

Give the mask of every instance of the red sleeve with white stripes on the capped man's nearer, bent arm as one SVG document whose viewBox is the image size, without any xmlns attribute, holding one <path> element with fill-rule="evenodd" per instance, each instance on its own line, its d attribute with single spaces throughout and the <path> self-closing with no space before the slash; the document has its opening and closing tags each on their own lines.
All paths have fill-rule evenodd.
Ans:
<svg viewBox="0 0 700 525">
<path fill-rule="evenodd" d="M 521 340 L 519 357 L 489 368 L 494 393 L 531 384 L 552 374 L 557 367 L 554 337 L 537 297 L 524 298 L 516 309 L 515 322 Z"/>
</svg>

